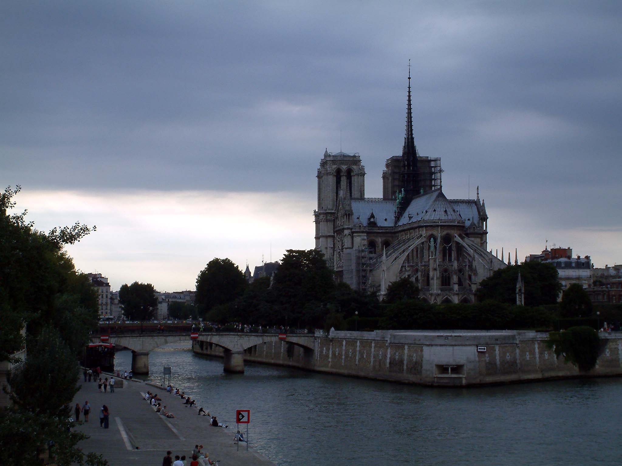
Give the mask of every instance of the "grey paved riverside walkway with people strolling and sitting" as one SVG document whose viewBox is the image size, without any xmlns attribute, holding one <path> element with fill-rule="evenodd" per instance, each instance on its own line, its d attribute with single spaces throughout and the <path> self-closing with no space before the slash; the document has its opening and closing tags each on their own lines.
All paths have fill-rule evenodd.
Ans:
<svg viewBox="0 0 622 466">
<path fill-rule="evenodd" d="M 109 376 L 108 376 L 109 377 Z M 82 379 L 81 379 L 82 380 Z M 118 380 L 118 379 L 117 379 Z M 198 408 L 187 408 L 179 396 L 166 393 L 161 388 L 141 381 L 124 381 L 123 388 L 116 388 L 114 393 L 100 393 L 97 384 L 81 382 L 81 389 L 73 399 L 73 405 L 91 405 L 88 423 L 77 426 L 78 431 L 90 436 L 78 446 L 84 452 L 102 454 L 111 466 L 128 464 L 160 466 L 167 450 L 175 455 L 186 455 L 187 464 L 192 459 L 192 449 L 197 444 L 203 445 L 203 452 L 208 452 L 211 460 L 220 460 L 220 466 L 273 466 L 274 464 L 246 444 L 233 443 L 236 424 L 224 427 L 211 427 L 209 416 L 198 416 Z M 165 418 L 156 413 L 147 401 L 141 399 L 141 393 L 149 390 L 162 398 L 162 406 L 172 412 L 175 418 Z M 109 428 L 100 427 L 100 408 L 103 404 L 110 411 Z M 73 410 L 72 410 L 73 412 Z M 225 413 L 211 413 L 225 417 Z M 84 421 L 83 414 L 80 421 Z M 246 430 L 246 429 L 244 429 Z M 138 447 L 138 449 L 136 448 Z"/>
</svg>

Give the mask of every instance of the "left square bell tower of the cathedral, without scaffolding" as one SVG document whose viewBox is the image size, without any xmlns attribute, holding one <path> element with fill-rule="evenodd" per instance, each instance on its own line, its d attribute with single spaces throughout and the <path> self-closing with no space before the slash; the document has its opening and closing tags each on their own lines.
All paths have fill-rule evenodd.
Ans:
<svg viewBox="0 0 622 466">
<path fill-rule="evenodd" d="M 332 153 L 328 149 L 317 169 L 317 210 L 315 221 L 315 249 L 324 253 L 329 267 L 333 267 L 335 253 L 335 212 L 339 199 L 363 199 L 365 196 L 365 167 L 358 153 Z"/>
</svg>

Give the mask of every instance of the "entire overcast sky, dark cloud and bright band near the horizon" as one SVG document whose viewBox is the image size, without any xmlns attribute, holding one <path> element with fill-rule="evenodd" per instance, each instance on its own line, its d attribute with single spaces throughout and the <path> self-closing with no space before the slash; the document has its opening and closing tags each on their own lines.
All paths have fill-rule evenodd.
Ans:
<svg viewBox="0 0 622 466">
<path fill-rule="evenodd" d="M 0 2 L 0 183 L 113 290 L 310 249 L 325 148 L 415 144 L 488 244 L 622 262 L 622 2 Z M 341 136 L 340 136 L 341 135 Z"/>
</svg>

